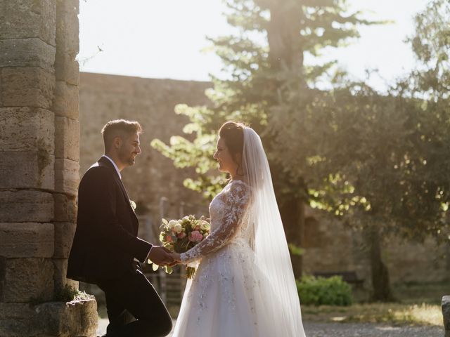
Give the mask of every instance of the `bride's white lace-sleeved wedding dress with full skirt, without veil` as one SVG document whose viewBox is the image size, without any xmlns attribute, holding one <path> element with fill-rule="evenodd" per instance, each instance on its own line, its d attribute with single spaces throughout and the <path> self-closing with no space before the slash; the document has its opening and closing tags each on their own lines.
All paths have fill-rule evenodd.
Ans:
<svg viewBox="0 0 450 337">
<path fill-rule="evenodd" d="M 264 303 L 260 274 L 250 246 L 248 185 L 233 180 L 210 204 L 211 233 L 183 254 L 184 262 L 201 258 L 188 280 L 175 336 L 276 336 L 270 303 Z"/>
</svg>

